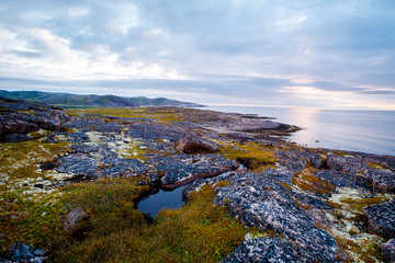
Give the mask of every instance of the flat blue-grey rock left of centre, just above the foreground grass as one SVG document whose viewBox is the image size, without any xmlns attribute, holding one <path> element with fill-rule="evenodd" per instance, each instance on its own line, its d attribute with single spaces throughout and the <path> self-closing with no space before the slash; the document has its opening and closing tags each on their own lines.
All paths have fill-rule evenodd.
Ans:
<svg viewBox="0 0 395 263">
<path fill-rule="evenodd" d="M 97 175 L 97 161 L 86 155 L 69 155 L 68 157 L 59 159 L 60 165 L 56 171 L 61 173 L 69 173 L 83 178 Z"/>
</svg>

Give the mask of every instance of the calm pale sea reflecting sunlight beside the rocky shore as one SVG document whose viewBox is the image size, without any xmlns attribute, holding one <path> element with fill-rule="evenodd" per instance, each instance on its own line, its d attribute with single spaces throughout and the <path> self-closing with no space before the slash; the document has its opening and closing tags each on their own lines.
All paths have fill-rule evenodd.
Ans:
<svg viewBox="0 0 395 263">
<path fill-rule="evenodd" d="M 303 128 L 296 144 L 395 156 L 395 111 L 342 111 L 259 106 L 208 106 L 206 110 L 258 114 Z"/>
</svg>

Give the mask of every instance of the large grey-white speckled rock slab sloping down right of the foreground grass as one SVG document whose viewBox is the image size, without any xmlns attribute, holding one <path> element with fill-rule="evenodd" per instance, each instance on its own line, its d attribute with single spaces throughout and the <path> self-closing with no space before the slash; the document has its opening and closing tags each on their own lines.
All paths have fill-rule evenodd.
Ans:
<svg viewBox="0 0 395 263">
<path fill-rule="evenodd" d="M 309 251 L 305 261 L 337 262 L 340 249 L 335 239 L 293 201 L 278 179 L 290 180 L 284 171 L 266 170 L 262 174 L 244 173 L 232 185 L 217 190 L 214 203 L 226 205 L 247 226 L 275 230 Z"/>
</svg>

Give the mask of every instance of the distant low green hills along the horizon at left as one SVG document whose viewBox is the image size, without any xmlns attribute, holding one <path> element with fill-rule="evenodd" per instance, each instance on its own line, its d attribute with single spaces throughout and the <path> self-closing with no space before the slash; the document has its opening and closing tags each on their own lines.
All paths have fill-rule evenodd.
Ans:
<svg viewBox="0 0 395 263">
<path fill-rule="evenodd" d="M 166 98 L 148 99 L 145 96 L 116 95 L 77 95 L 70 93 L 53 93 L 42 91 L 4 91 L 0 90 L 0 98 L 37 101 L 59 107 L 138 107 L 138 106 L 178 106 L 201 107 L 202 105 L 169 100 Z"/>
</svg>

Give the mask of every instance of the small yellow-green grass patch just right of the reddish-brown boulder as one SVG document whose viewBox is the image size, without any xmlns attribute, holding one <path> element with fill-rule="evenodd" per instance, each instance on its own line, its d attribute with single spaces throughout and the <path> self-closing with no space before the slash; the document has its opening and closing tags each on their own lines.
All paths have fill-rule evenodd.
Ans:
<svg viewBox="0 0 395 263">
<path fill-rule="evenodd" d="M 261 171 L 276 161 L 274 150 L 268 146 L 249 142 L 245 145 L 232 144 L 221 149 L 228 159 L 241 162 L 249 169 Z"/>
</svg>

